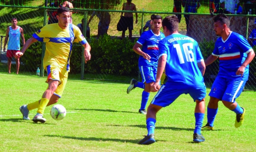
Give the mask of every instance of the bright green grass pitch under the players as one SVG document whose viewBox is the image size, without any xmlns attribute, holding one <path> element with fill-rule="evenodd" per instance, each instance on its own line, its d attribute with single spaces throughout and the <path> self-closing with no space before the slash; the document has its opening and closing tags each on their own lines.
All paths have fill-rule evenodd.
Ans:
<svg viewBox="0 0 256 152">
<path fill-rule="evenodd" d="M 72 77 L 72 76 L 70 76 Z M 59 104 L 66 118 L 55 121 L 45 110 L 45 124 L 22 120 L 19 107 L 41 98 L 46 77 L 0 74 L 0 151 L 35 152 L 255 152 L 255 92 L 237 101 L 247 110 L 244 124 L 234 127 L 235 114 L 219 104 L 214 131 L 202 131 L 206 141 L 192 142 L 195 103 L 180 96 L 157 114 L 156 143 L 137 144 L 147 133 L 145 115 L 138 112 L 142 90 L 126 94 L 128 83 L 69 79 Z M 209 89 L 207 89 L 209 93 Z M 151 93 L 149 101 L 156 93 Z M 209 97 L 206 98 L 206 104 Z M 148 103 L 149 104 L 149 103 Z M 36 110 L 29 114 L 33 118 Z M 204 118 L 204 124 L 207 118 Z"/>
</svg>

